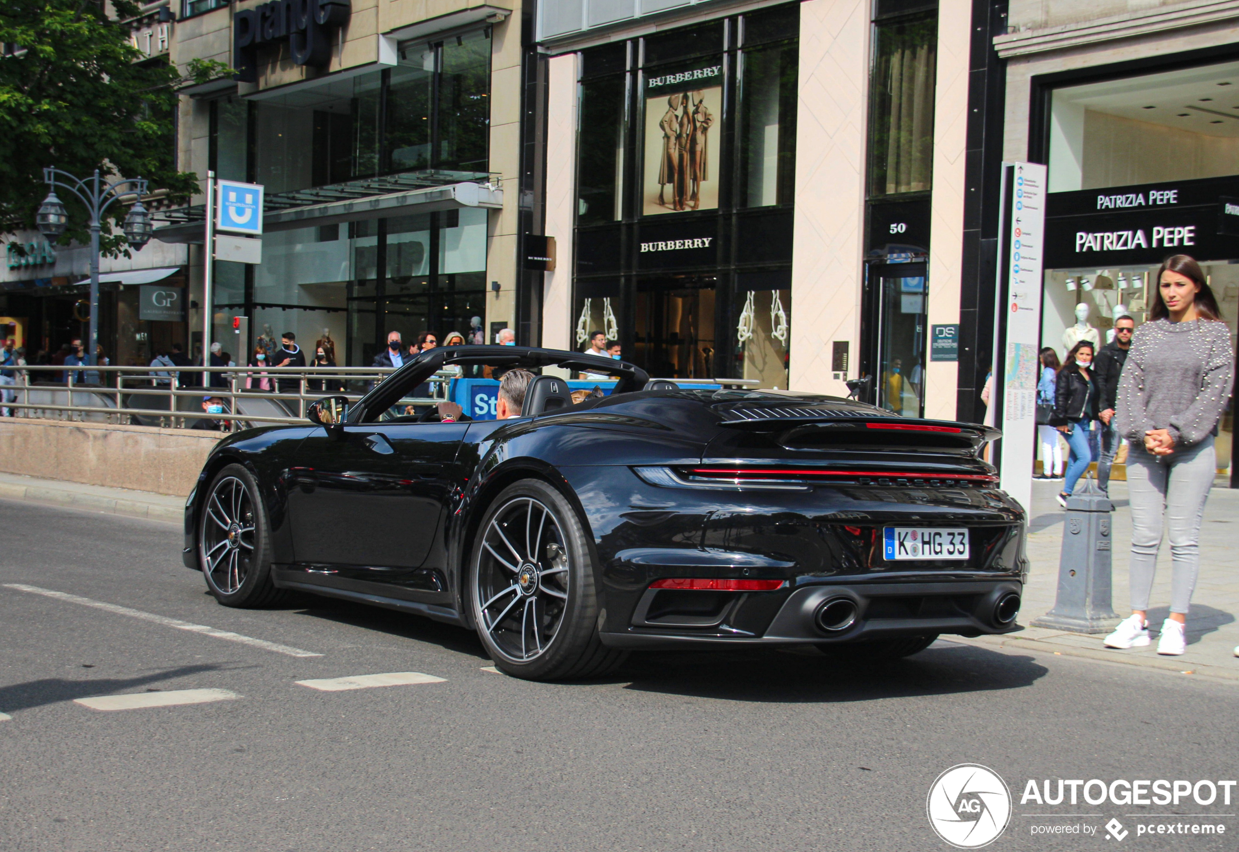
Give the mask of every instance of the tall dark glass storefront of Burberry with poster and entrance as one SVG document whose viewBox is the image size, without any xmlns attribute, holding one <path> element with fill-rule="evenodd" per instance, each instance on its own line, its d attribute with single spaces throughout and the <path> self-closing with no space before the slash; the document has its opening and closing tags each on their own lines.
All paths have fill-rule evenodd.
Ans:
<svg viewBox="0 0 1239 852">
<path fill-rule="evenodd" d="M 787 387 L 798 6 L 581 53 L 574 344 Z"/>
</svg>

